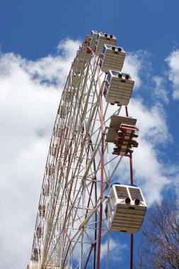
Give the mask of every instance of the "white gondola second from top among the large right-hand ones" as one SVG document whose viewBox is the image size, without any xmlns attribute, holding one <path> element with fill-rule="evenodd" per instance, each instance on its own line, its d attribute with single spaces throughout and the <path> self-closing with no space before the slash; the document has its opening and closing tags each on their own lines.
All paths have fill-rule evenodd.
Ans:
<svg viewBox="0 0 179 269">
<path fill-rule="evenodd" d="M 121 71 L 125 61 L 125 51 L 122 47 L 104 45 L 100 67 L 103 72 L 109 70 Z"/>
</svg>

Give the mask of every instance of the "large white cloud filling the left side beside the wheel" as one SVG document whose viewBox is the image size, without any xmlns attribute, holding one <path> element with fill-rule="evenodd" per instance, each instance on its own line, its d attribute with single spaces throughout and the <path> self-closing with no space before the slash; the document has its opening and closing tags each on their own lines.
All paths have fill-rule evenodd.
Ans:
<svg viewBox="0 0 179 269">
<path fill-rule="evenodd" d="M 35 62 L 1 54 L 0 268 L 25 268 L 30 260 L 52 127 L 78 47 L 65 40 L 63 55 Z"/>
</svg>

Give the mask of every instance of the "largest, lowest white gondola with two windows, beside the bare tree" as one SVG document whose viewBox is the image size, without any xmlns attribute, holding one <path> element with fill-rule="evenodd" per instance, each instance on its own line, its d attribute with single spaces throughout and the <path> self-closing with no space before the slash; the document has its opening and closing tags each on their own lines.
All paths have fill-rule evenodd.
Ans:
<svg viewBox="0 0 179 269">
<path fill-rule="evenodd" d="M 109 231 L 137 233 L 146 214 L 146 202 L 141 188 L 112 184 L 105 214 Z"/>
</svg>

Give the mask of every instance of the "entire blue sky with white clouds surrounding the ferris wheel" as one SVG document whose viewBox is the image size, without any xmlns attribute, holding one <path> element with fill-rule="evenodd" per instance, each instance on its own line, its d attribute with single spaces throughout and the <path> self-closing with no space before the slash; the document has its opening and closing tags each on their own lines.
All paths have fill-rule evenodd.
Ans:
<svg viewBox="0 0 179 269">
<path fill-rule="evenodd" d="M 174 189 L 178 195 L 178 10 L 178 0 L 0 0 L 1 268 L 23 269 L 30 258 L 60 93 L 79 40 L 93 29 L 116 36 L 136 81 L 129 111 L 141 130 L 137 185 L 150 206 Z M 117 241 L 128 245 L 129 236 L 117 235 Z M 117 249 L 121 260 L 111 268 L 129 268 L 129 248 Z"/>
</svg>

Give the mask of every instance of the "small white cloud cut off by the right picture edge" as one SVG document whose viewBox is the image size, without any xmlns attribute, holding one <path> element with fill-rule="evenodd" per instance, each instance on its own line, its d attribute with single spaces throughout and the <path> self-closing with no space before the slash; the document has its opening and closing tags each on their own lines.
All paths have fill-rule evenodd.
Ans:
<svg viewBox="0 0 179 269">
<path fill-rule="evenodd" d="M 179 50 L 174 50 L 166 58 L 169 66 L 168 78 L 173 85 L 173 98 L 179 99 Z"/>
</svg>

